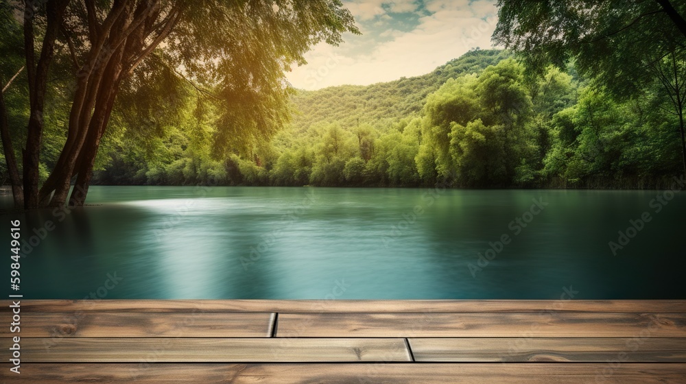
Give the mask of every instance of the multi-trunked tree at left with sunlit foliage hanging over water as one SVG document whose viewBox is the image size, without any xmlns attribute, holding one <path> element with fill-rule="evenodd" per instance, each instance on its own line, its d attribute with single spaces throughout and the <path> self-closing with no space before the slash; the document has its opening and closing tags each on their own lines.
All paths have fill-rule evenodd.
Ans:
<svg viewBox="0 0 686 384">
<path fill-rule="evenodd" d="M 123 82 L 140 81 L 132 74 L 145 60 L 212 91 L 221 106 L 222 129 L 215 138 L 221 149 L 230 141 L 254 142 L 278 130 L 288 118 L 285 71 L 303 64 L 312 45 L 338 45 L 343 32 L 359 33 L 338 0 L 47 0 L 38 8 L 27 0 L 19 8 L 30 90 L 22 165 L 25 208 L 64 205 L 74 177 L 69 204 L 84 203 L 117 93 Z M 42 40 L 40 48 L 36 40 Z M 56 51 L 57 45 L 64 49 Z M 56 55 L 73 64 L 73 101 L 66 142 L 39 189 L 45 88 Z M 3 147 L 5 154 L 11 152 L 11 141 Z M 16 164 L 8 166 L 14 168 L 10 175 L 18 174 Z M 16 182 L 13 191 L 19 190 Z"/>
</svg>

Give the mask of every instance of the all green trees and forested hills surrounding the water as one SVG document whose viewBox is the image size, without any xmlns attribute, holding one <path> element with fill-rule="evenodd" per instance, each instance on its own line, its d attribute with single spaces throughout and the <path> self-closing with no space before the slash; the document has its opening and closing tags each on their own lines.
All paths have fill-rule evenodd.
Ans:
<svg viewBox="0 0 686 384">
<path fill-rule="evenodd" d="M 327 5 L 338 9 L 334 19 L 326 12 L 289 16 L 287 12 L 299 8 L 274 8 L 270 2 L 235 9 L 227 5 L 226 12 L 239 15 L 235 20 L 247 28 L 237 29 L 229 22 L 234 19 L 211 20 L 205 26 L 208 16 L 202 12 L 169 3 L 154 15 L 160 23 L 169 23 L 169 29 L 152 21 L 141 25 L 154 26 L 145 32 L 159 34 L 154 43 L 166 33 L 179 44 L 143 49 L 141 42 L 150 40 L 130 43 L 126 49 L 142 53 L 139 58 L 126 56 L 123 49 L 118 60 L 126 64 L 128 58 L 131 69 L 121 72 L 111 52 L 93 53 L 97 28 L 69 25 L 68 19 L 61 26 L 50 22 L 51 12 L 73 12 L 74 19 L 86 20 L 88 12 L 97 10 L 69 1 L 47 4 L 60 3 L 60 10 L 47 8 L 43 16 L 32 15 L 37 37 L 53 43 L 43 52 L 51 59 L 44 71 L 43 56 L 34 64 L 38 53 L 25 55 L 26 23 L 16 20 L 9 5 L 0 12 L 5 25 L 0 36 L 3 126 L 8 127 L 3 129 L 3 145 L 28 143 L 32 148 L 30 156 L 21 147 L 3 149 L 0 173 L 3 184 L 14 180 L 14 185 L 21 185 L 23 173 L 24 193 L 32 198 L 27 206 L 49 202 L 51 195 L 51 204 L 63 204 L 77 177 L 76 183 L 86 189 L 88 184 L 437 183 L 461 188 L 653 189 L 667 187 L 685 169 L 686 23 L 669 2 L 668 8 L 657 3 L 618 8 L 602 2 L 598 12 L 589 13 L 564 2 L 536 7 L 501 0 L 493 41 L 506 49 L 471 49 L 425 75 L 318 91 L 292 88 L 283 73 L 291 65 L 304 64 L 302 55 L 309 45 L 320 40 L 338 45 L 343 32 L 359 34 L 340 5 Z M 134 11 L 130 8 L 135 16 L 139 11 Z M 104 18 L 114 10 L 100 12 Z M 263 12 L 255 20 L 276 27 L 264 29 L 245 16 L 250 12 Z M 279 24 L 279 18 L 292 21 L 296 16 L 304 18 L 309 29 Z M 227 28 L 226 35 L 202 40 L 209 31 L 204 27 L 217 26 Z M 546 27 L 562 29 L 547 34 L 545 30 L 552 29 Z M 282 41 L 279 36 L 292 39 Z M 228 41 L 267 41 L 281 50 L 258 49 L 253 54 L 235 48 L 229 54 Z M 85 82 L 80 91 L 80 71 L 90 68 L 84 64 L 88 55 L 104 55 L 113 71 L 123 75 L 108 85 L 103 83 L 108 77 L 100 73 L 93 91 Z M 235 56 L 245 60 L 231 60 Z M 212 57 L 224 60 L 222 71 L 229 75 L 217 79 L 218 67 L 206 60 Z M 39 71 L 23 70 L 27 65 L 37 65 Z M 27 76 L 38 75 L 43 75 L 44 88 L 36 91 L 36 81 Z M 95 92 L 104 87 L 113 91 L 101 98 Z M 86 101 L 93 99 L 94 109 L 82 108 L 79 117 L 74 115 L 74 100 L 82 93 Z M 42 136 L 32 136 L 36 131 L 26 129 L 27 121 L 29 128 L 40 126 Z M 88 127 L 79 130 L 80 124 L 95 126 L 95 133 L 87 134 Z M 87 150 L 78 151 L 72 143 L 86 143 Z M 21 171 L 24 162 L 6 159 L 8 154 L 31 163 L 24 168 L 29 173 Z M 19 171 L 12 173 L 14 168 Z"/>
</svg>

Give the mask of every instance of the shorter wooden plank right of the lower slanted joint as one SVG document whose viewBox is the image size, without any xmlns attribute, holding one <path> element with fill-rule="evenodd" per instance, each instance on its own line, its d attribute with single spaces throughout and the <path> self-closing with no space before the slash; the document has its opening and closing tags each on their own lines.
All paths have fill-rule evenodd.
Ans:
<svg viewBox="0 0 686 384">
<path fill-rule="evenodd" d="M 686 339 L 683 338 L 467 337 L 408 341 L 415 361 L 686 363 Z"/>
</svg>

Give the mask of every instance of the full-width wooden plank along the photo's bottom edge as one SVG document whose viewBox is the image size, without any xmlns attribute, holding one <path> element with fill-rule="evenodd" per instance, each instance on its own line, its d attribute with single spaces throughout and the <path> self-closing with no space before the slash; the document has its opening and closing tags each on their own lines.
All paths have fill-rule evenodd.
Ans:
<svg viewBox="0 0 686 384">
<path fill-rule="evenodd" d="M 10 364 L 0 364 L 9 372 Z M 10 383 L 684 383 L 679 363 L 23 363 Z"/>
</svg>

